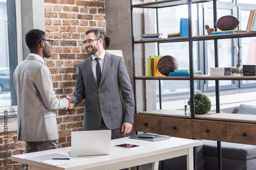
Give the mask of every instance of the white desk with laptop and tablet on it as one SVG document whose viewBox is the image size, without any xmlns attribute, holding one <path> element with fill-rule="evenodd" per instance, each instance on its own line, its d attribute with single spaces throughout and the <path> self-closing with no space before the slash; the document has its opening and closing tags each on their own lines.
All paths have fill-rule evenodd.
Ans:
<svg viewBox="0 0 256 170">
<path fill-rule="evenodd" d="M 82 158 L 86 158 L 89 160 L 59 166 L 51 166 L 44 163 L 26 160 L 24 158 L 33 158 L 34 156 L 47 155 L 52 153 L 59 153 L 68 156 L 68 151 L 71 150 L 71 147 L 14 155 L 11 156 L 11 159 L 12 161 L 28 164 L 29 169 L 31 168 L 31 170 L 82 170 L 123 169 L 127 167 L 133 167 L 137 165 L 143 165 L 151 162 L 157 162 L 182 155 L 187 155 L 187 169 L 193 170 L 193 147 L 203 144 L 203 142 L 200 140 L 175 137 L 159 141 L 137 140 L 127 137 L 111 140 L 111 146 L 123 143 L 141 145 L 144 146 L 144 148 L 127 150 L 111 147 L 111 152 L 109 155 L 82 156 Z"/>
</svg>

